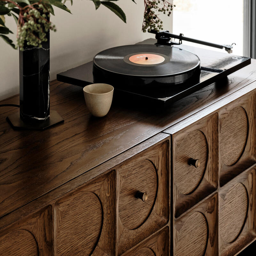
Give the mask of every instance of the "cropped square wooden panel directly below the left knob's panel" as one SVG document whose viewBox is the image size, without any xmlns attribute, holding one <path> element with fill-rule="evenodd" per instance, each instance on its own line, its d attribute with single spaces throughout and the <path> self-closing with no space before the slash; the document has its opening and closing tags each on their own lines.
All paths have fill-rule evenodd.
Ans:
<svg viewBox="0 0 256 256">
<path fill-rule="evenodd" d="M 153 235 L 146 241 L 141 242 L 131 251 L 123 254 L 123 256 L 169 256 L 169 234 L 169 228 L 164 228 L 156 235 Z"/>
</svg>

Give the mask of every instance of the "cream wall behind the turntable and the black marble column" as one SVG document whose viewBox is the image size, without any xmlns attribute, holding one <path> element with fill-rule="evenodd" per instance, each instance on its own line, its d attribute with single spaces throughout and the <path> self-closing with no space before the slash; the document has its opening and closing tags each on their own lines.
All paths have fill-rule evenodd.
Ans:
<svg viewBox="0 0 256 256">
<path fill-rule="evenodd" d="M 116 2 L 127 16 L 127 24 L 105 6 L 95 11 L 94 4 L 88 0 L 75 0 L 67 6 L 73 14 L 54 8 L 51 21 L 57 32 L 51 32 L 50 70 L 51 80 L 56 74 L 91 61 L 101 50 L 136 42 L 153 37 L 142 33 L 144 1 L 120 0 Z M 164 29 L 172 28 L 172 18 L 164 16 Z M 16 34 L 12 17 L 6 18 L 6 25 Z M 12 37 L 15 40 L 15 36 Z M 0 38 L 0 100 L 19 93 L 19 52 L 13 50 Z"/>
</svg>

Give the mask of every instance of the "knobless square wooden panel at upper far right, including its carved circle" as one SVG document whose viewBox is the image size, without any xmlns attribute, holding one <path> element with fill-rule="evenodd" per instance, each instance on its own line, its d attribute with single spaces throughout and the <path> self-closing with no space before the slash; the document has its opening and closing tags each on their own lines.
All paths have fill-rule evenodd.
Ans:
<svg viewBox="0 0 256 256">
<path fill-rule="evenodd" d="M 256 162 L 255 106 L 250 93 L 220 109 L 220 186 Z"/>
</svg>

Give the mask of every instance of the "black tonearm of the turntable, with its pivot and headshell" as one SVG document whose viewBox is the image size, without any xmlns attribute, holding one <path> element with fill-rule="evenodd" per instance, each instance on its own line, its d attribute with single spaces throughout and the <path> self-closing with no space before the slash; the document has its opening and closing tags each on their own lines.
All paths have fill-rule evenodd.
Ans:
<svg viewBox="0 0 256 256">
<path fill-rule="evenodd" d="M 188 41 L 188 42 L 192 42 L 192 43 L 196 43 L 196 44 L 204 44 L 204 45 L 219 48 L 219 49 L 224 48 L 228 53 L 232 53 L 233 44 L 235 44 L 235 43 L 233 43 L 233 44 L 213 44 L 213 43 L 209 43 L 209 42 L 205 42 L 205 41 L 185 37 L 185 36 L 183 36 L 183 34 L 180 34 L 179 36 L 174 35 L 174 34 L 170 33 L 168 30 L 159 31 L 159 32 L 157 32 L 156 30 L 150 30 L 148 32 L 156 34 L 156 39 L 157 39 L 156 44 L 161 44 L 161 45 L 170 45 L 170 46 L 172 46 L 172 45 L 175 45 L 175 44 L 176 45 L 177 44 L 182 44 L 182 40 L 184 40 L 184 41 Z M 171 38 L 179 39 L 179 42 L 171 41 Z"/>
</svg>

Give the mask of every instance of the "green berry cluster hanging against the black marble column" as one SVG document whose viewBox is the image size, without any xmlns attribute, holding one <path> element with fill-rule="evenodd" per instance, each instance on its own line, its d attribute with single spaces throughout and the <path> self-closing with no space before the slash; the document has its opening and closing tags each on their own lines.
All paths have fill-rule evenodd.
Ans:
<svg viewBox="0 0 256 256">
<path fill-rule="evenodd" d="M 28 7 L 20 10 L 19 15 L 17 45 L 21 51 L 25 45 L 41 48 L 42 42 L 47 41 L 46 33 L 56 31 L 45 5 L 39 2 Z"/>
</svg>

